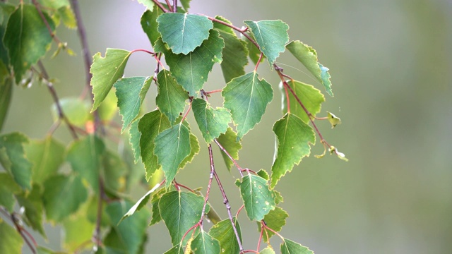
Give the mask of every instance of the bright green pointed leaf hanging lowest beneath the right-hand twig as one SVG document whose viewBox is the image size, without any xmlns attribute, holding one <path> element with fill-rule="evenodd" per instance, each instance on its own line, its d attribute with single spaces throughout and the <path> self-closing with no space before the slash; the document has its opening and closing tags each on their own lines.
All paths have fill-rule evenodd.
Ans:
<svg viewBox="0 0 452 254">
<path fill-rule="evenodd" d="M 273 132 L 277 138 L 278 153 L 271 167 L 271 188 L 287 171 L 292 171 L 294 164 L 298 165 L 303 157 L 308 156 L 311 153 L 310 144 L 316 143 L 312 128 L 295 114 L 285 114 L 276 121 Z"/>
</svg>

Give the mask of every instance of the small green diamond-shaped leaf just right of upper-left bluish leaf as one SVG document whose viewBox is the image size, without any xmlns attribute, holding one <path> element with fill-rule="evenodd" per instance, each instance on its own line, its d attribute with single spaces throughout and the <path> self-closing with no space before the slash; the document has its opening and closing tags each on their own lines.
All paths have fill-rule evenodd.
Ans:
<svg viewBox="0 0 452 254">
<path fill-rule="evenodd" d="M 174 123 L 184 111 L 185 100 L 189 99 L 189 95 L 166 70 L 157 74 L 157 85 L 158 95 L 155 97 L 155 103 L 168 117 L 169 122 Z"/>
</svg>

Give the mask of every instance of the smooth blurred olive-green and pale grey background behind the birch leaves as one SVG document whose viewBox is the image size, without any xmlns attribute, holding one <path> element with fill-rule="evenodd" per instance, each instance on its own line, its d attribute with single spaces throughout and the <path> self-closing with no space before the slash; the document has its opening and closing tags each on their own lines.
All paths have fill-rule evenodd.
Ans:
<svg viewBox="0 0 452 254">
<path fill-rule="evenodd" d="M 107 47 L 150 49 L 140 25 L 145 8 L 137 1 L 80 4 L 91 54 L 103 56 Z M 331 111 L 343 123 L 333 130 L 328 122 L 318 124 L 328 143 L 350 162 L 311 156 L 281 179 L 276 189 L 290 214 L 283 236 L 315 253 L 451 253 L 452 1 L 193 0 L 191 13 L 220 14 L 239 27 L 243 20 L 282 19 L 290 25 L 290 40 L 314 47 L 319 61 L 330 68 L 335 97 L 326 95 L 319 116 Z M 58 35 L 77 56 L 59 54 L 44 64 L 59 80 L 59 97 L 78 96 L 85 85 L 80 43 L 76 31 L 61 28 Z M 285 73 L 325 93 L 289 52 L 277 61 L 287 64 L 281 65 Z M 125 75 L 153 75 L 154 68 L 152 57 L 137 53 Z M 239 164 L 270 171 L 275 143 L 271 128 L 282 116 L 281 98 L 278 75 L 268 63 L 258 72 L 273 85 L 275 97 L 261 124 L 244 137 Z M 207 90 L 224 85 L 217 65 Z M 155 107 L 154 97 L 155 89 L 148 92 L 148 109 Z M 44 137 L 53 122 L 51 105 L 44 87 L 15 87 L 4 133 Z M 59 138 L 69 141 L 67 130 L 60 129 Z M 232 209 L 237 210 L 240 200 L 233 182 L 238 176 L 234 170 L 227 172 L 219 150 L 215 152 Z M 311 155 L 321 152 L 318 143 Z M 205 190 L 208 167 L 207 149 L 201 144 L 200 155 L 178 180 Z M 145 190 L 134 192 L 137 200 Z M 210 202 L 226 217 L 215 185 Z M 241 217 L 244 246 L 256 248 L 257 226 Z M 49 243 L 58 248 L 59 229 L 47 230 Z M 273 241 L 279 249 L 278 239 Z M 170 245 L 162 222 L 149 229 L 147 253 L 163 253 Z"/>
</svg>

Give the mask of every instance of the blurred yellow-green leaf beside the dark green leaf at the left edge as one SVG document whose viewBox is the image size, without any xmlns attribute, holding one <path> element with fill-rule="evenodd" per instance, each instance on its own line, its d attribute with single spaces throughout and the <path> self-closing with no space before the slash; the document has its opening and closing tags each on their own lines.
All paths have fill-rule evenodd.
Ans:
<svg viewBox="0 0 452 254">
<path fill-rule="evenodd" d="M 49 177 L 55 174 L 64 162 L 65 152 L 63 144 L 47 135 L 44 140 L 32 140 L 25 146 L 25 154 L 32 167 L 33 183 L 42 184 Z"/>
</svg>

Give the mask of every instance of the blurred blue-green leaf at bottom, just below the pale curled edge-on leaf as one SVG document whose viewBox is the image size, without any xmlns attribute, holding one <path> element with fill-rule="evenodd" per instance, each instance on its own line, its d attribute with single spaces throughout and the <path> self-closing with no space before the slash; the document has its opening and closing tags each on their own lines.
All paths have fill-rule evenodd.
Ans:
<svg viewBox="0 0 452 254">
<path fill-rule="evenodd" d="M 124 246 L 124 250 L 126 250 L 125 253 L 138 253 L 138 250 L 140 250 L 145 239 L 148 225 L 146 220 L 150 214 L 148 210 L 141 210 L 140 212 L 136 212 L 135 216 L 118 224 L 122 215 L 131 207 L 131 202 L 122 200 L 110 202 L 107 207 L 105 207 L 105 210 L 114 225 L 113 229 L 117 233 L 118 243 L 120 243 L 121 246 Z M 108 243 L 106 243 L 106 245 L 108 246 Z"/>
</svg>

